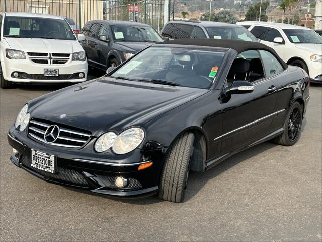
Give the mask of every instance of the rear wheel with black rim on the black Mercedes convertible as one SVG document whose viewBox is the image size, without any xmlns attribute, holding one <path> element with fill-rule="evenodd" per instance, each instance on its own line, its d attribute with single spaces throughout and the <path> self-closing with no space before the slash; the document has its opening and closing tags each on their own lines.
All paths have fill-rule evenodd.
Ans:
<svg viewBox="0 0 322 242">
<path fill-rule="evenodd" d="M 296 114 L 294 115 L 294 111 L 297 111 L 298 116 L 296 116 Z M 284 129 L 283 134 L 273 139 L 273 141 L 276 144 L 291 146 L 298 141 L 298 139 L 300 138 L 301 128 L 302 128 L 302 119 L 303 119 L 302 113 L 303 113 L 303 107 L 301 106 L 301 104 L 299 104 L 298 102 L 294 102 L 286 115 L 284 125 L 283 125 L 283 129 Z M 293 127 L 293 131 L 292 131 L 292 127 Z M 293 138 L 291 138 L 292 137 L 291 134 L 294 131 L 296 132 L 296 134 L 294 135 Z"/>
</svg>

